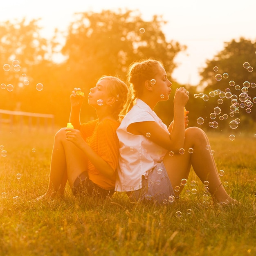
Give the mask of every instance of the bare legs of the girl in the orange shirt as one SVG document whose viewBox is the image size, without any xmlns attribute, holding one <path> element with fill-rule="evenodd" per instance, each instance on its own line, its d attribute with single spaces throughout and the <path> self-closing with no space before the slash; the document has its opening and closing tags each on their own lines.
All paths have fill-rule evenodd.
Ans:
<svg viewBox="0 0 256 256">
<path fill-rule="evenodd" d="M 83 171 L 86 171 L 86 157 L 72 142 L 66 140 L 66 131 L 62 128 L 54 137 L 47 192 L 37 199 L 64 195 L 67 180 L 72 188 L 76 177 Z"/>
</svg>

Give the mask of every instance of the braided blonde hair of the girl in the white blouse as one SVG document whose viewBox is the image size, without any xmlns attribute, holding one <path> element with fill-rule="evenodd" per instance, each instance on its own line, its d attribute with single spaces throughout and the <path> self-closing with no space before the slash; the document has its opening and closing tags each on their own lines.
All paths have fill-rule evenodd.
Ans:
<svg viewBox="0 0 256 256">
<path fill-rule="evenodd" d="M 135 61 L 130 64 L 127 74 L 127 81 L 129 83 L 128 99 L 121 112 L 122 117 L 124 117 L 132 108 L 135 99 L 137 99 L 143 92 L 145 81 L 153 79 L 159 66 L 164 67 L 161 61 L 151 58 Z"/>
</svg>

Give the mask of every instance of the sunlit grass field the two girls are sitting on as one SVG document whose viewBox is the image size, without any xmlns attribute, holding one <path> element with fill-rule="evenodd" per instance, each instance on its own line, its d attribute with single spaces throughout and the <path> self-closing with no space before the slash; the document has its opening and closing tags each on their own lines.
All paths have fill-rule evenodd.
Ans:
<svg viewBox="0 0 256 256">
<path fill-rule="evenodd" d="M 193 172 L 186 189 L 195 180 L 198 193 L 183 191 L 171 207 L 131 204 L 123 193 L 105 202 L 79 201 L 68 186 L 65 200 L 33 202 L 47 189 L 54 134 L 2 129 L 7 156 L 0 156 L 0 255 L 256 255 L 254 133 L 234 141 L 209 135 L 218 170 L 225 171 L 221 179 L 241 202 L 222 210 L 211 198 L 204 207 L 203 185 Z"/>
</svg>

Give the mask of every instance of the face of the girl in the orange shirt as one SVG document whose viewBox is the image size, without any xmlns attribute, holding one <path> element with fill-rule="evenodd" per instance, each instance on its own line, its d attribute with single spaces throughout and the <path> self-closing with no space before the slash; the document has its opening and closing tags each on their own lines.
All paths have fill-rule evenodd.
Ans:
<svg viewBox="0 0 256 256">
<path fill-rule="evenodd" d="M 101 79 L 94 88 L 90 89 L 88 103 L 93 107 L 102 106 L 106 105 L 108 98 L 109 92 L 107 81 L 105 79 Z"/>
</svg>

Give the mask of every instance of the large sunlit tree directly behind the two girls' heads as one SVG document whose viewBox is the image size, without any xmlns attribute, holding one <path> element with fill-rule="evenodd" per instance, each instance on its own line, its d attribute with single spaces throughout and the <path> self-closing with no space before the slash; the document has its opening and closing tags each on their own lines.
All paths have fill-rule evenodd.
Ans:
<svg viewBox="0 0 256 256">
<path fill-rule="evenodd" d="M 67 56 L 63 82 L 88 92 L 102 75 L 125 80 L 128 65 L 141 58 L 163 61 L 171 76 L 176 67 L 174 58 L 185 47 L 166 41 L 161 30 L 164 24 L 158 16 L 144 21 L 137 11 L 77 13 L 62 49 Z M 85 115 L 91 113 L 86 110 Z"/>
</svg>

